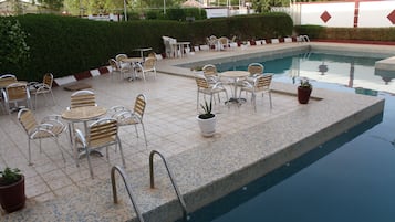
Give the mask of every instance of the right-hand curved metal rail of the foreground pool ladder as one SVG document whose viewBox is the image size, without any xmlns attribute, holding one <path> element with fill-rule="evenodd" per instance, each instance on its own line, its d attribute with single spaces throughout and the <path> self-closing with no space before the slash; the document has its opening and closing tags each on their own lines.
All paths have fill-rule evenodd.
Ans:
<svg viewBox="0 0 395 222">
<path fill-rule="evenodd" d="M 164 157 L 160 152 L 158 152 L 158 151 L 156 151 L 156 150 L 153 150 L 153 151 L 150 151 L 150 154 L 149 154 L 149 178 L 150 178 L 150 188 L 152 188 L 152 189 L 155 188 L 155 181 L 154 181 L 154 155 L 155 155 L 155 154 L 159 155 L 159 157 L 160 157 L 162 160 L 164 161 L 165 167 L 166 167 L 166 170 L 167 170 L 167 172 L 168 172 L 168 176 L 170 177 L 170 181 L 171 181 L 173 188 L 174 188 L 174 190 L 176 191 L 176 194 L 177 194 L 177 198 L 178 198 L 179 203 L 181 204 L 181 208 L 183 208 L 183 216 L 184 216 L 185 220 L 188 220 L 188 216 L 187 216 L 187 214 L 188 214 L 188 212 L 187 212 L 187 207 L 186 207 L 186 204 L 185 204 L 185 201 L 184 201 L 184 199 L 183 199 L 183 195 L 181 195 L 180 192 L 179 192 L 179 189 L 178 189 L 178 187 L 177 187 L 177 184 L 176 184 L 176 181 L 174 180 L 174 176 L 173 176 L 170 169 L 169 169 L 168 166 L 167 166 L 167 161 L 166 161 L 165 157 Z"/>
</svg>

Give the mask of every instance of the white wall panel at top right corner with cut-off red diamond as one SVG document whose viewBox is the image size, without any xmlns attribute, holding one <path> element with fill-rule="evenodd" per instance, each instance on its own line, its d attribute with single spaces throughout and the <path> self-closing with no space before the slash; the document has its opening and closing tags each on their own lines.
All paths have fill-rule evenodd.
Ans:
<svg viewBox="0 0 395 222">
<path fill-rule="evenodd" d="M 361 2 L 358 27 L 395 27 L 388 14 L 395 10 L 395 1 Z"/>
</svg>

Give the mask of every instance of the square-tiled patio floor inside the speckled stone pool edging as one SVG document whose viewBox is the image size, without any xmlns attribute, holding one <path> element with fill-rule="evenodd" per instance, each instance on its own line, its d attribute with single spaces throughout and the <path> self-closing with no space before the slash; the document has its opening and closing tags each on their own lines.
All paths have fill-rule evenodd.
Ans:
<svg viewBox="0 0 395 222">
<path fill-rule="evenodd" d="M 214 141 L 222 136 L 243 130 L 251 125 L 282 115 L 295 107 L 292 96 L 272 94 L 273 108 L 269 107 L 268 97 L 258 97 L 258 112 L 247 102 L 241 107 L 225 106 L 224 101 L 215 104 L 218 116 L 217 133 L 212 138 L 200 136 L 196 120 L 196 85 L 194 78 L 179 77 L 158 73 L 157 78 L 148 77 L 147 82 L 128 82 L 118 76 L 105 74 L 82 82 L 92 85 L 100 106 L 110 108 L 115 105 L 132 107 L 137 94 L 147 96 L 144 123 L 148 147 L 138 128 L 136 138 L 134 127 L 119 128 L 119 137 L 124 147 L 127 170 L 133 171 L 148 163 L 150 150 L 156 149 L 164 156 L 173 156 L 202 142 Z M 230 89 L 230 88 L 229 88 Z M 49 114 L 62 114 L 70 104 L 72 92 L 56 87 L 53 91 L 56 104 L 44 105 L 39 98 L 34 110 L 37 119 Z M 225 97 L 222 98 L 225 99 Z M 66 124 L 66 121 L 64 121 Z M 60 137 L 60 145 L 66 158 L 62 157 L 52 140 L 42 141 L 42 152 L 38 141 L 32 142 L 33 166 L 28 166 L 28 141 L 17 119 L 17 113 L 0 116 L 0 168 L 10 166 L 19 168 L 25 176 L 27 198 L 34 201 L 46 201 L 56 197 L 79 191 L 81 188 L 94 186 L 110 178 L 110 168 L 121 165 L 118 152 L 110 149 L 110 163 L 105 157 L 92 156 L 95 179 L 90 179 L 87 161 L 80 159 L 80 167 L 72 158 L 67 131 Z"/>
</svg>

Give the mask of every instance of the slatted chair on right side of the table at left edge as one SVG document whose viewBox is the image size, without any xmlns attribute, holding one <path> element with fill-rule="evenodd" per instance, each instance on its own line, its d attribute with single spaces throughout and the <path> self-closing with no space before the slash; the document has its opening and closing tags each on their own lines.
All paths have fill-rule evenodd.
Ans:
<svg viewBox="0 0 395 222">
<path fill-rule="evenodd" d="M 46 73 L 43 76 L 42 83 L 38 83 L 38 82 L 30 82 L 29 85 L 29 89 L 30 89 L 30 94 L 34 95 L 34 107 L 37 108 L 37 97 L 38 95 L 43 95 L 45 98 L 45 104 L 46 104 L 46 94 L 51 94 L 52 96 L 52 102 L 53 105 L 55 105 L 55 97 L 53 96 L 52 93 L 52 84 L 53 84 L 53 75 L 52 73 Z"/>
</svg>

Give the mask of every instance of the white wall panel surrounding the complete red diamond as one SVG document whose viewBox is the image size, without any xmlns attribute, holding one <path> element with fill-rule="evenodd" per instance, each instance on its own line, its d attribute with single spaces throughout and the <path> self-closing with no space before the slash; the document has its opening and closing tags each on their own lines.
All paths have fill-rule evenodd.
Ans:
<svg viewBox="0 0 395 222">
<path fill-rule="evenodd" d="M 318 24 L 323 27 L 353 27 L 354 2 L 339 3 L 306 3 L 301 6 L 301 24 Z M 324 22 L 321 15 L 324 12 L 331 19 Z"/>
</svg>

